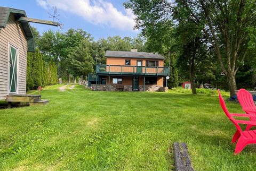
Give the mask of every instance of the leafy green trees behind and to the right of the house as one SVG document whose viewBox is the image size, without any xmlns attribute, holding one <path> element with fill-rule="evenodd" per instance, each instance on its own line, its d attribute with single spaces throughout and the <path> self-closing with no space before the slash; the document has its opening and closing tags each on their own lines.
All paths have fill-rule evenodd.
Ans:
<svg viewBox="0 0 256 171">
<path fill-rule="evenodd" d="M 137 48 L 138 52 L 158 52 L 166 58 L 164 65 L 170 63 L 169 88 L 190 80 L 193 93 L 197 84 L 210 83 L 229 90 L 232 96 L 237 88 L 256 85 L 256 18 L 252 17 L 255 13 L 248 11 L 255 4 L 225 1 L 229 4 L 225 6 L 218 2 L 177 0 L 145 4 L 130 0 L 124 5 L 137 16 L 135 28 L 141 33 L 136 37 L 95 40 L 82 29 L 49 30 L 40 35 L 33 28 L 35 44 L 42 61 L 57 66 L 57 75 L 63 80 L 68 80 L 69 75 L 76 78 L 93 72 L 96 61 L 105 64 L 106 50 Z"/>
</svg>

